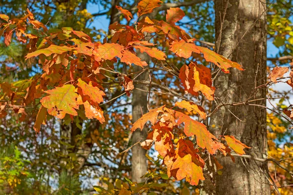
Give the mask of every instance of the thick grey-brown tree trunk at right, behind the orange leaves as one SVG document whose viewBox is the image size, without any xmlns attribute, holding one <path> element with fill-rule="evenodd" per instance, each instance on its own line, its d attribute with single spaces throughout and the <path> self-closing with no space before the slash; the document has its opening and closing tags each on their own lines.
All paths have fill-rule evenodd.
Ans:
<svg viewBox="0 0 293 195">
<path fill-rule="evenodd" d="M 264 99 L 253 102 L 260 106 L 222 107 L 210 118 L 209 123 L 209 131 L 216 137 L 224 134 L 235 136 L 251 147 L 247 150 L 250 155 L 260 158 L 265 158 L 267 154 L 266 109 L 261 107 L 266 105 L 266 89 L 253 90 L 266 82 L 265 10 L 265 0 L 215 1 L 218 53 L 238 62 L 246 69 L 230 69 L 230 74 L 226 75 L 220 73 L 214 81 L 217 88 L 215 100 L 217 103 L 228 103 L 248 98 Z M 216 103 L 213 104 L 213 108 L 215 106 Z M 221 170 L 223 174 L 211 178 L 215 185 L 213 191 L 206 191 L 206 194 L 270 194 L 269 185 L 266 184 L 269 181 L 265 164 L 250 159 L 242 161 L 241 158 L 236 158 L 233 163 L 229 157 L 220 158 L 219 162 L 224 167 Z"/>
</svg>

